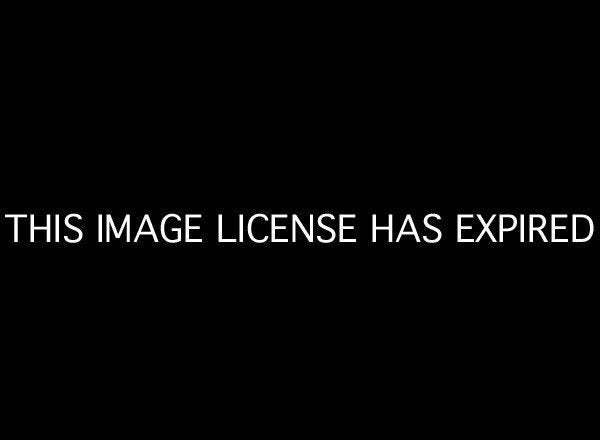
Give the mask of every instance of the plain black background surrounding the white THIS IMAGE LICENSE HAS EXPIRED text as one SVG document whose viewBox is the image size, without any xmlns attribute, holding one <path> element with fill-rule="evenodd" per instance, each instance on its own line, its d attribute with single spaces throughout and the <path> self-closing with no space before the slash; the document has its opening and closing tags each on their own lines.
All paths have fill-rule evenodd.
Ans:
<svg viewBox="0 0 600 440">
<path fill-rule="evenodd" d="M 2 213 L 356 212 L 361 243 L 5 240 L 12 413 L 572 429 L 594 389 L 597 238 L 460 246 L 453 218 L 597 221 L 592 29 L 539 11 L 247 12 L 30 11 L 3 55 Z M 440 245 L 368 244 L 371 213 L 428 212 Z"/>
</svg>

